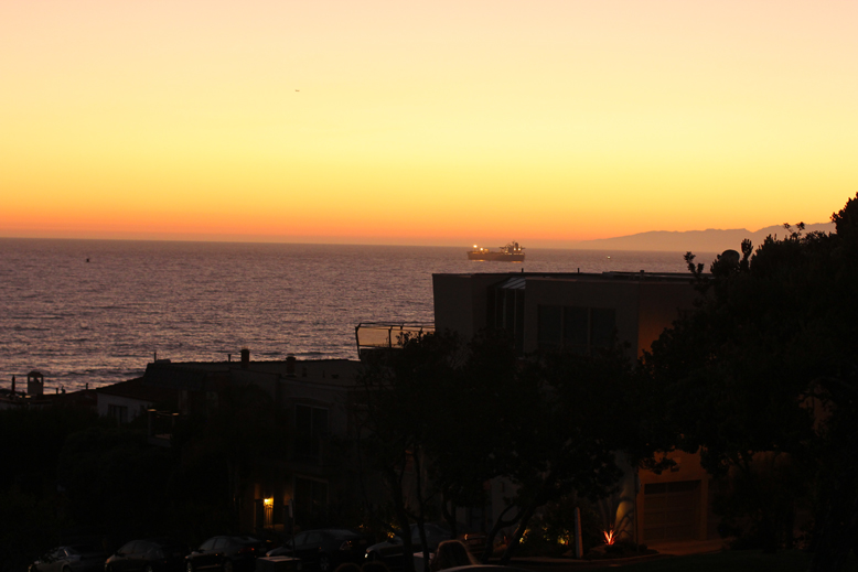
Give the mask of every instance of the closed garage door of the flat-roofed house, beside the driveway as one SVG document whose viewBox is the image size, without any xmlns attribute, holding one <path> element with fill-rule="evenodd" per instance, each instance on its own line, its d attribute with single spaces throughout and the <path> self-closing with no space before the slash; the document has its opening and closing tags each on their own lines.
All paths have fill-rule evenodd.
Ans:
<svg viewBox="0 0 858 572">
<path fill-rule="evenodd" d="M 700 529 L 700 482 L 644 485 L 644 542 L 693 540 Z"/>
</svg>

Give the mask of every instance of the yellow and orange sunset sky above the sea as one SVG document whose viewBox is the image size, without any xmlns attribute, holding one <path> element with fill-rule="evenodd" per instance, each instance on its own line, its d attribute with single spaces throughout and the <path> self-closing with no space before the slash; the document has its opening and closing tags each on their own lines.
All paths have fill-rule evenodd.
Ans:
<svg viewBox="0 0 858 572">
<path fill-rule="evenodd" d="M 0 3 L 0 236 L 564 246 L 858 192 L 858 2 Z"/>
</svg>

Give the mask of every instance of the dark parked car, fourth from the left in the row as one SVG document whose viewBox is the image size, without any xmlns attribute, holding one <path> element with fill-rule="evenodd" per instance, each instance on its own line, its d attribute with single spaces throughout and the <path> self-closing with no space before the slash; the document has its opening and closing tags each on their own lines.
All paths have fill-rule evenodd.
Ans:
<svg viewBox="0 0 858 572">
<path fill-rule="evenodd" d="M 328 528 L 300 532 L 286 544 L 269 550 L 269 557 L 293 557 L 301 560 L 303 570 L 331 572 L 344 562 L 364 561 L 366 537 L 354 530 Z"/>
</svg>

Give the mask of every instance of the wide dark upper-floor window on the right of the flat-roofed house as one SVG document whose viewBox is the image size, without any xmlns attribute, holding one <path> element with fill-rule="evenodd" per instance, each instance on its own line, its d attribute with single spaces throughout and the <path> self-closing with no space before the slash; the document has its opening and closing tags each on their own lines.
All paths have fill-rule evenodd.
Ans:
<svg viewBox="0 0 858 572">
<path fill-rule="evenodd" d="M 610 347 L 616 336 L 616 311 L 611 307 L 537 306 L 539 349 L 570 349 L 582 354 Z"/>
</svg>

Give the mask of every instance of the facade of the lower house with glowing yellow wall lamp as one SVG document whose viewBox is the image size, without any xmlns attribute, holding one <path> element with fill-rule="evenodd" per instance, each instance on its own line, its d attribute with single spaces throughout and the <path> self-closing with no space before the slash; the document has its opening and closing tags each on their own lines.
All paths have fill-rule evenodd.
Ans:
<svg viewBox="0 0 858 572">
<path fill-rule="evenodd" d="M 251 361 L 247 353 L 240 361 L 149 364 L 143 379 L 174 389 L 180 415 L 205 415 L 235 391 L 267 393 L 286 418 L 286 453 L 256 460 L 240 490 L 239 519 L 243 530 L 289 533 L 336 521 L 358 498 L 358 479 L 337 447 L 350 436 L 358 366 L 347 359 Z"/>
</svg>

